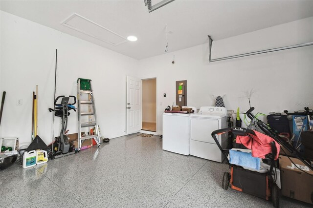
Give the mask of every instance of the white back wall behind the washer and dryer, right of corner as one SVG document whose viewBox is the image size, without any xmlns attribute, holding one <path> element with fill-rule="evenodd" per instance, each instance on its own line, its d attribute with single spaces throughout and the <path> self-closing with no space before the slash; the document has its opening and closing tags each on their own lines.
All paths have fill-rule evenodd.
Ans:
<svg viewBox="0 0 313 208">
<path fill-rule="evenodd" d="M 212 59 L 305 42 L 313 42 L 313 17 L 214 41 Z M 227 109 L 246 111 L 244 91 L 251 89 L 255 91 L 251 97 L 255 112 L 313 108 L 313 46 L 208 63 L 205 43 L 139 64 L 142 78 L 157 78 L 158 133 L 162 132 L 165 106 L 175 101 L 175 81 L 179 80 L 187 80 L 187 104 L 197 108 L 214 105 L 212 94 L 225 94 Z"/>
</svg>

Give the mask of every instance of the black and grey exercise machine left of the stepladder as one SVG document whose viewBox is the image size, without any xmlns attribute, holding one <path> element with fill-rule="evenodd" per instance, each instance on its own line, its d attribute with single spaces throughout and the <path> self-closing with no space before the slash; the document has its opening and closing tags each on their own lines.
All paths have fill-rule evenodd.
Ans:
<svg viewBox="0 0 313 208">
<path fill-rule="evenodd" d="M 61 103 L 58 104 L 58 100 L 60 98 L 62 98 L 62 100 L 61 100 Z M 68 103 L 70 98 L 74 99 L 74 102 L 71 104 Z M 76 153 L 74 146 L 70 144 L 66 135 L 67 134 L 67 118 L 70 115 L 69 111 L 70 110 L 76 111 L 74 104 L 76 104 L 75 96 L 70 95 L 68 97 L 65 97 L 64 95 L 62 95 L 55 99 L 54 109 L 48 108 L 49 112 L 52 112 L 52 111 L 54 112 L 54 116 L 60 117 L 62 119 L 60 136 L 55 137 L 52 144 L 48 146 L 52 150 L 52 153 L 53 153 L 52 159 L 55 159 L 58 156 L 60 157 L 60 155 L 62 156 L 63 154 Z"/>
</svg>

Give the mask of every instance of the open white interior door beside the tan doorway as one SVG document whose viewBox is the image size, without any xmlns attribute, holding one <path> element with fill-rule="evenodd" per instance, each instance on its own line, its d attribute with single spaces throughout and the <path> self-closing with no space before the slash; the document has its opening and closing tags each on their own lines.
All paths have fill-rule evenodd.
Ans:
<svg viewBox="0 0 313 208">
<path fill-rule="evenodd" d="M 141 80 L 127 76 L 126 134 L 141 129 Z"/>
</svg>

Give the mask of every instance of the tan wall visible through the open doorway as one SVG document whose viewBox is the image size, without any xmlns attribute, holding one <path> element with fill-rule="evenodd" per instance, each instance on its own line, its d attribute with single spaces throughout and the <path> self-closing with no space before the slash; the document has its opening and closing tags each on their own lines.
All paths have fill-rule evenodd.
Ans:
<svg viewBox="0 0 313 208">
<path fill-rule="evenodd" d="M 142 122 L 156 123 L 156 79 L 142 80 Z"/>
</svg>

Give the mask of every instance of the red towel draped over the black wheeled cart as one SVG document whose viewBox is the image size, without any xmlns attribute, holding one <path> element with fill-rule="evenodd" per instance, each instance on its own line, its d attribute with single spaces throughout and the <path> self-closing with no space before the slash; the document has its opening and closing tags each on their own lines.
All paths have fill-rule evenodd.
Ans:
<svg viewBox="0 0 313 208">
<path fill-rule="evenodd" d="M 246 146 L 246 148 L 251 149 L 253 157 L 259 157 L 264 159 L 265 155 L 272 152 L 272 148 L 269 143 L 275 142 L 275 146 L 277 149 L 275 160 L 277 160 L 280 150 L 279 144 L 268 135 L 262 134 L 258 131 L 254 131 L 254 133 L 256 136 L 252 134 L 249 134 L 249 136 L 237 136 L 236 143 L 243 144 L 244 146 Z"/>
</svg>

